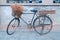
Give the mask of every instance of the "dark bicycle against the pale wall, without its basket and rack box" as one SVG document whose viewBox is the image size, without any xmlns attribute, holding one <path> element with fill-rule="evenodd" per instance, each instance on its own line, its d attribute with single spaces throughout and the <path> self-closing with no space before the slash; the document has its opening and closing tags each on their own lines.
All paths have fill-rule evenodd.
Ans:
<svg viewBox="0 0 60 40">
<path fill-rule="evenodd" d="M 45 13 L 44 15 L 41 15 L 41 14 L 40 14 L 39 16 L 37 16 L 37 17 L 34 19 L 34 17 L 35 17 L 35 15 L 36 15 L 36 13 L 37 13 L 38 10 L 31 10 L 31 11 L 34 12 L 34 15 L 33 15 L 33 17 L 32 17 L 31 23 L 30 23 L 29 25 L 30 25 L 31 27 L 33 27 L 34 30 L 35 30 L 38 34 L 40 34 L 40 35 L 44 35 L 44 34 L 49 33 L 49 32 L 51 31 L 51 29 L 52 29 L 52 24 L 53 24 L 53 22 L 52 22 L 52 20 L 50 19 L 50 17 L 46 15 L 46 14 L 48 14 L 48 13 Z M 22 13 L 22 14 L 24 14 L 24 13 Z M 28 13 L 26 13 L 26 14 L 28 14 Z M 24 21 L 24 22 L 28 25 L 28 23 L 27 23 L 23 18 L 20 17 L 20 19 L 21 19 L 22 21 Z M 34 20 L 33 20 L 33 19 L 34 19 Z M 49 23 L 45 23 L 45 22 L 47 22 L 47 21 L 48 21 Z M 32 24 L 32 23 L 33 23 L 33 24 Z M 16 28 L 19 26 L 19 24 L 20 24 L 19 18 L 14 17 L 14 18 L 9 22 L 9 24 L 8 24 L 8 26 L 7 26 L 7 30 L 6 30 L 7 34 L 8 34 L 8 35 L 12 35 L 12 34 L 15 32 Z M 46 28 L 46 26 L 49 26 L 50 29 L 44 30 L 44 29 Z"/>
</svg>

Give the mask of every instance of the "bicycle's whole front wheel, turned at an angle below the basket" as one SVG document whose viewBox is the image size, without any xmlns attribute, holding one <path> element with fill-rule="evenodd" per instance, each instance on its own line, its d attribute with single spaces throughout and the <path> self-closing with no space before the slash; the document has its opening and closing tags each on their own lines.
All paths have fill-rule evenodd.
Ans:
<svg viewBox="0 0 60 40">
<path fill-rule="evenodd" d="M 19 23 L 19 18 L 13 18 L 7 26 L 7 34 L 12 35 L 15 32 L 16 28 L 19 26 Z"/>
</svg>

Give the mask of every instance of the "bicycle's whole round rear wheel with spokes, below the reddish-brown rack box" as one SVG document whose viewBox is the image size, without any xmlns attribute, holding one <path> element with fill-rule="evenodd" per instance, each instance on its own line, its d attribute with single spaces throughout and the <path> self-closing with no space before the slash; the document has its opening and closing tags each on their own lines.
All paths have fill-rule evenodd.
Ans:
<svg viewBox="0 0 60 40">
<path fill-rule="evenodd" d="M 47 34 L 52 29 L 52 20 L 48 16 L 39 16 L 34 20 L 33 28 L 40 35 Z"/>
</svg>

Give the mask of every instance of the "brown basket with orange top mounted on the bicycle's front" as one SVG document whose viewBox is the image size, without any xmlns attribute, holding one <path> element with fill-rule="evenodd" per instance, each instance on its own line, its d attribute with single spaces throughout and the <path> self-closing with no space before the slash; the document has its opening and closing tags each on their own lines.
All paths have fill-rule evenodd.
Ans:
<svg viewBox="0 0 60 40">
<path fill-rule="evenodd" d="M 21 16 L 22 11 L 23 11 L 23 6 L 14 4 L 14 5 L 11 5 L 11 8 L 12 8 L 12 12 L 15 16 L 17 16 L 17 17 Z"/>
</svg>

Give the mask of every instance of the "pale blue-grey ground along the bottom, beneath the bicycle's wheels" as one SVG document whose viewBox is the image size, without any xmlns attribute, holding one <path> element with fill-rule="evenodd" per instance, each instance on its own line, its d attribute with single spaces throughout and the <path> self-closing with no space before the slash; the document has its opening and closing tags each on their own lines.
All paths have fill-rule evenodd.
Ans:
<svg viewBox="0 0 60 40">
<path fill-rule="evenodd" d="M 16 31 L 13 35 L 0 31 L 0 40 L 60 40 L 60 32 L 50 32 L 41 36 L 34 31 Z"/>
</svg>

